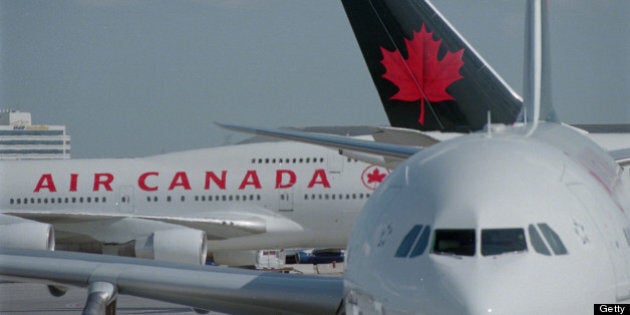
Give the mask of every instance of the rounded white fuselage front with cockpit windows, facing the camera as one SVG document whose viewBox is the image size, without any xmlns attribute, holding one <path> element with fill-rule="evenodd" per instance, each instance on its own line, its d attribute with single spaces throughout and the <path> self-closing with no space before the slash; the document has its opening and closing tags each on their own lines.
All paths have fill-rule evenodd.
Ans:
<svg viewBox="0 0 630 315">
<path fill-rule="evenodd" d="M 565 126 L 520 129 L 436 144 L 389 175 L 355 223 L 346 311 L 590 314 L 630 301 L 628 171 Z"/>
</svg>

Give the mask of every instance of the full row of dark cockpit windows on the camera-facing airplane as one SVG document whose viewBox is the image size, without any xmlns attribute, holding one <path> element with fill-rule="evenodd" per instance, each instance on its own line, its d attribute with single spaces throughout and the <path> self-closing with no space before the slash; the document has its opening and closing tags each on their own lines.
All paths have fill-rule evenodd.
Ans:
<svg viewBox="0 0 630 315">
<path fill-rule="evenodd" d="M 429 247 L 431 227 L 414 225 L 396 250 L 395 257 L 417 257 Z M 560 236 L 546 223 L 530 224 L 527 228 L 529 243 L 539 254 L 567 255 Z M 475 256 L 476 231 L 474 229 L 436 229 L 433 233 L 431 253 L 454 256 Z M 481 255 L 496 256 L 527 251 L 525 229 L 481 230 Z"/>
</svg>

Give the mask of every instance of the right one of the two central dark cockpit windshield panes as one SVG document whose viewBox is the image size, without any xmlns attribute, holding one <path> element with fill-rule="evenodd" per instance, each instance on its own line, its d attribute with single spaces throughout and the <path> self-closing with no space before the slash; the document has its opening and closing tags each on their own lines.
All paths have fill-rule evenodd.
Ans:
<svg viewBox="0 0 630 315">
<path fill-rule="evenodd" d="M 527 250 L 523 229 L 485 229 L 481 230 L 481 254 L 484 256 Z"/>
</svg>

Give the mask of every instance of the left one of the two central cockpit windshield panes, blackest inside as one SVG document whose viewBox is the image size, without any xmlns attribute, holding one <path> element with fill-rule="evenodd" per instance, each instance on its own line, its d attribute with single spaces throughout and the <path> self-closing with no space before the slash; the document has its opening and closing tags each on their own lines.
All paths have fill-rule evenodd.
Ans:
<svg viewBox="0 0 630 315">
<path fill-rule="evenodd" d="M 475 255 L 474 229 L 436 229 L 433 253 L 458 256 Z"/>
</svg>

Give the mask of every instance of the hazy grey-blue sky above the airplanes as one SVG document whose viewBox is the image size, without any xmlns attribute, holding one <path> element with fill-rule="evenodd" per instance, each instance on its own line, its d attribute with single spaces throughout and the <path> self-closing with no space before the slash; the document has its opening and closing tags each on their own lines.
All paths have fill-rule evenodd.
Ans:
<svg viewBox="0 0 630 315">
<path fill-rule="evenodd" d="M 550 2 L 558 116 L 630 123 L 630 1 Z M 433 3 L 520 93 L 524 1 Z M 0 109 L 66 125 L 73 158 L 388 124 L 336 0 L 0 0 Z"/>
</svg>

